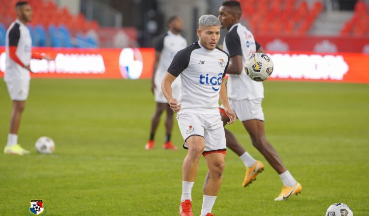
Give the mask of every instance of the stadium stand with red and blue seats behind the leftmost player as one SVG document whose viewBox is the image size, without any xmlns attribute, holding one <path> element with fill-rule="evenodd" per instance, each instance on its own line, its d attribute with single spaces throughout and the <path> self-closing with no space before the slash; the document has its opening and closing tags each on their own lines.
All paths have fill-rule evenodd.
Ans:
<svg viewBox="0 0 369 216">
<path fill-rule="evenodd" d="M 96 21 L 87 21 L 83 14 L 74 16 L 67 8 L 60 8 L 53 1 L 28 0 L 33 16 L 28 25 L 32 46 L 96 48 L 98 37 L 91 31 L 100 27 Z M 17 0 L 0 0 L 0 46 L 5 43 L 5 33 L 16 18 L 14 5 Z"/>
</svg>

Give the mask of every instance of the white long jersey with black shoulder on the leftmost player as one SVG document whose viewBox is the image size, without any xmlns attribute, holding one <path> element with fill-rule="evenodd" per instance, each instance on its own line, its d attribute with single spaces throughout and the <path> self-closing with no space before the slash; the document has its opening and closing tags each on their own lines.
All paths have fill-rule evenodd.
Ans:
<svg viewBox="0 0 369 216">
<path fill-rule="evenodd" d="M 19 20 L 14 21 L 6 32 L 5 46 L 6 68 L 4 81 L 30 80 L 30 72 L 20 65 L 29 65 L 31 62 L 32 40 L 28 27 Z M 16 48 L 16 59 L 13 59 L 12 47 Z"/>
</svg>

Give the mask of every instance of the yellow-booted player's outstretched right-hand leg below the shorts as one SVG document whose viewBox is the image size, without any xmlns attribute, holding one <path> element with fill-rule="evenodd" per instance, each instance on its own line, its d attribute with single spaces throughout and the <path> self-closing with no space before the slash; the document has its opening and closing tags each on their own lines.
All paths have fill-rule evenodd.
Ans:
<svg viewBox="0 0 369 216">
<path fill-rule="evenodd" d="M 284 200 L 289 196 L 301 192 L 301 185 L 295 180 L 291 173 L 283 165 L 276 149 L 267 140 L 264 129 L 264 122 L 252 119 L 243 122 L 248 134 L 250 135 L 252 145 L 264 156 L 264 158 L 277 171 L 283 182 L 281 194 L 275 199 Z"/>
</svg>

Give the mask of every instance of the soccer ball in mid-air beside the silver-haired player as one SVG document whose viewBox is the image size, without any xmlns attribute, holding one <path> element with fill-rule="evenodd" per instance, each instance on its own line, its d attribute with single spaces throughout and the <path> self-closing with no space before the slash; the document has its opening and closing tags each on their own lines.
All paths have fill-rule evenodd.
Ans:
<svg viewBox="0 0 369 216">
<path fill-rule="evenodd" d="M 245 72 L 253 81 L 265 81 L 273 72 L 273 61 L 263 53 L 251 54 L 245 61 Z"/>
</svg>

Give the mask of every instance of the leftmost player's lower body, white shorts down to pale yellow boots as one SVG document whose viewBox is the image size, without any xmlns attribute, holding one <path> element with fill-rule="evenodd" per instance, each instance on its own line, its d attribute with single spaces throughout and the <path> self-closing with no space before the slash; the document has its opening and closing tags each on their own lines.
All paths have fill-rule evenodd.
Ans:
<svg viewBox="0 0 369 216">
<path fill-rule="evenodd" d="M 8 140 L 4 148 L 4 153 L 13 155 L 29 154 L 29 151 L 18 144 L 18 130 L 30 89 L 30 81 L 10 81 L 6 82 L 6 85 L 12 100 L 12 110 Z"/>
</svg>

